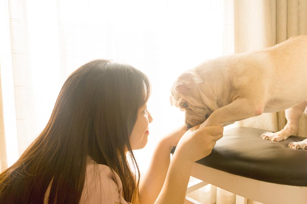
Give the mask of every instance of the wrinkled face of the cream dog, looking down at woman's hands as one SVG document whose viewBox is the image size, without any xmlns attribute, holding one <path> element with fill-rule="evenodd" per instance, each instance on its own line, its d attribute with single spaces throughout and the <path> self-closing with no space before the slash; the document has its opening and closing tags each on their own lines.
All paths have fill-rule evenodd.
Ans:
<svg viewBox="0 0 307 204">
<path fill-rule="evenodd" d="M 213 112 L 204 104 L 202 80 L 191 71 L 184 72 L 177 78 L 171 88 L 171 105 L 185 111 L 185 125 L 191 128 L 203 123 Z"/>
</svg>

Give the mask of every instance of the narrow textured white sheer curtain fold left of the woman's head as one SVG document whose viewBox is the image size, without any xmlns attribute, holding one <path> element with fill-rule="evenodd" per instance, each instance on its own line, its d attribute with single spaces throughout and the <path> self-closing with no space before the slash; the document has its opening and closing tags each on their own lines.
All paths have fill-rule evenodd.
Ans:
<svg viewBox="0 0 307 204">
<path fill-rule="evenodd" d="M 25 1 L 10 0 L 11 56 L 19 156 L 33 138 L 33 85 Z M 32 121 L 32 122 L 31 122 Z"/>
</svg>

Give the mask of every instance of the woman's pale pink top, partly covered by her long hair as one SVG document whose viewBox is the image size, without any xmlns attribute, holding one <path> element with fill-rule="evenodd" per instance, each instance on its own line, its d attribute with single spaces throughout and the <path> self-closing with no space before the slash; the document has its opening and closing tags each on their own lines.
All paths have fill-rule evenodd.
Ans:
<svg viewBox="0 0 307 204">
<path fill-rule="evenodd" d="M 46 191 L 44 204 L 48 203 L 50 188 L 51 183 Z M 122 182 L 117 173 L 113 175 L 110 167 L 88 160 L 80 204 L 131 204 L 122 195 Z"/>
</svg>

